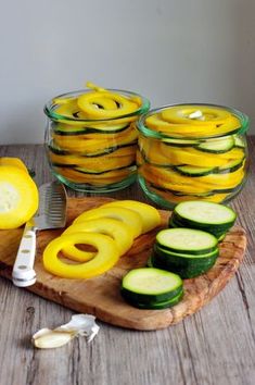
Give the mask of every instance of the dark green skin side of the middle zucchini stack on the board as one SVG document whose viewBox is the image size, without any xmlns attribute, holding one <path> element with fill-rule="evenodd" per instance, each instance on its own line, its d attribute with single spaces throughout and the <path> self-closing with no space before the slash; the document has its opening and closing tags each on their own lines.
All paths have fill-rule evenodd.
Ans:
<svg viewBox="0 0 255 385">
<path fill-rule="evenodd" d="M 219 254 L 218 249 L 216 252 L 212 252 L 211 256 L 206 258 L 183 258 L 179 254 L 166 253 L 164 250 L 155 251 L 153 250 L 151 256 L 151 264 L 153 268 L 163 269 L 178 274 L 181 278 L 194 278 L 201 274 L 206 273 L 215 264 L 217 257 Z"/>
</svg>

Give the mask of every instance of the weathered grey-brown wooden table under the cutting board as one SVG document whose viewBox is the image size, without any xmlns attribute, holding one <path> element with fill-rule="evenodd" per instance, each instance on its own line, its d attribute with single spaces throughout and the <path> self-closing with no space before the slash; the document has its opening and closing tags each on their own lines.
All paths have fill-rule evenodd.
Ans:
<svg viewBox="0 0 255 385">
<path fill-rule="evenodd" d="M 255 137 L 250 153 L 250 178 L 232 202 L 247 232 L 247 250 L 209 305 L 156 332 L 98 321 L 100 333 L 90 345 L 80 337 L 59 349 L 37 350 L 31 335 L 68 322 L 74 312 L 0 278 L 0 385 L 255 384 Z M 4 156 L 23 159 L 36 171 L 38 185 L 52 179 L 42 146 L 1 146 Z M 111 197 L 146 201 L 137 185 Z"/>
</svg>

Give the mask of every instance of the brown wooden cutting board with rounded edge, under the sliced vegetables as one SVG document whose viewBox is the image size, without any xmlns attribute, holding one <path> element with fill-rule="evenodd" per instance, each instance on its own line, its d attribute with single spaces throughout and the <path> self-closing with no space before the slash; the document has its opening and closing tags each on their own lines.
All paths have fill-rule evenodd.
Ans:
<svg viewBox="0 0 255 385">
<path fill-rule="evenodd" d="M 67 226 L 82 211 L 111 200 L 113 199 L 100 197 L 69 198 Z M 161 227 L 166 227 L 170 212 L 163 210 L 160 212 Z M 25 289 L 77 312 L 93 314 L 113 325 L 142 331 L 174 325 L 199 311 L 226 286 L 243 260 L 246 236 L 242 227 L 233 227 L 220 244 L 219 258 L 214 268 L 196 278 L 184 280 L 184 296 L 177 306 L 164 310 L 136 309 L 123 300 L 119 294 L 120 281 L 130 269 L 146 264 L 155 235 L 161 227 L 137 238 L 129 252 L 123 256 L 113 269 L 90 280 L 65 280 L 44 271 L 41 262 L 43 249 L 63 229 L 38 232 L 35 262 L 37 282 Z M 22 233 L 22 228 L 0 231 L 0 275 L 9 280 Z"/>
</svg>

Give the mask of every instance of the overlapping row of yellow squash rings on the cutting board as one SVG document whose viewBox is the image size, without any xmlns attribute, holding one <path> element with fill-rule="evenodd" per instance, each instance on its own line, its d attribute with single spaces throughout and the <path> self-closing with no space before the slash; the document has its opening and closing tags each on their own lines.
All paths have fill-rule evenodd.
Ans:
<svg viewBox="0 0 255 385">
<path fill-rule="evenodd" d="M 98 276 L 115 265 L 131 248 L 135 238 L 160 224 L 160 212 L 136 200 L 111 201 L 90 209 L 48 244 L 43 252 L 44 269 L 64 278 Z"/>
</svg>

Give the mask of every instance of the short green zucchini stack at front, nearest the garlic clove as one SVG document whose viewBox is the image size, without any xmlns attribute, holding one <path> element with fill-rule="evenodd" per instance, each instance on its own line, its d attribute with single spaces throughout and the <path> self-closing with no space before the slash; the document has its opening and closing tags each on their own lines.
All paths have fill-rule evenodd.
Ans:
<svg viewBox="0 0 255 385">
<path fill-rule="evenodd" d="M 182 291 L 182 280 L 171 272 L 154 268 L 129 271 L 123 278 L 120 294 L 132 303 L 169 301 Z"/>
</svg>

